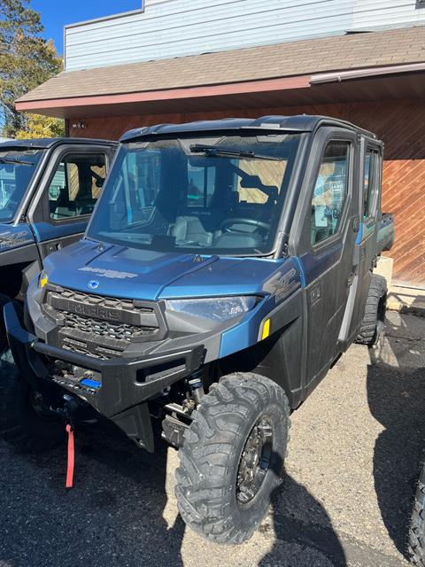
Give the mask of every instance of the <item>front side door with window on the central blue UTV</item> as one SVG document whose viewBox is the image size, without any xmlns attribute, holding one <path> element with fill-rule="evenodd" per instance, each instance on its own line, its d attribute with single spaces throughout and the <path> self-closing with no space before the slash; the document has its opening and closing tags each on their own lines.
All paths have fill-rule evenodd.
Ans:
<svg viewBox="0 0 425 567">
<path fill-rule="evenodd" d="M 313 140 L 290 234 L 305 278 L 305 396 L 340 352 L 359 232 L 359 137 L 321 128 Z"/>
</svg>

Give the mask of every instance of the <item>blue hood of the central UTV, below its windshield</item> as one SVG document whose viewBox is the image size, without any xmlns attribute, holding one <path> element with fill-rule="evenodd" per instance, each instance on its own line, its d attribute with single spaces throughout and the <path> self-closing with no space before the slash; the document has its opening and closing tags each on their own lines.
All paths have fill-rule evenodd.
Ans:
<svg viewBox="0 0 425 567">
<path fill-rule="evenodd" d="M 153 252 L 81 240 L 44 262 L 50 283 L 126 299 L 260 293 L 282 262 Z"/>
</svg>

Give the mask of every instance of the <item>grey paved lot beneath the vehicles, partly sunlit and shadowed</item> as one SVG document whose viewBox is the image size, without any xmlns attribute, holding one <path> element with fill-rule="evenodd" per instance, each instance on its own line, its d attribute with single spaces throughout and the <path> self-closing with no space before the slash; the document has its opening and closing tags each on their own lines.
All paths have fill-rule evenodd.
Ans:
<svg viewBox="0 0 425 567">
<path fill-rule="evenodd" d="M 352 346 L 292 416 L 287 477 L 251 541 L 221 548 L 177 516 L 173 449 L 93 431 L 65 454 L 0 443 L 0 567 L 405 565 L 425 447 L 425 318 L 389 313 L 379 352 Z M 166 471 L 166 472 L 165 472 Z"/>
</svg>

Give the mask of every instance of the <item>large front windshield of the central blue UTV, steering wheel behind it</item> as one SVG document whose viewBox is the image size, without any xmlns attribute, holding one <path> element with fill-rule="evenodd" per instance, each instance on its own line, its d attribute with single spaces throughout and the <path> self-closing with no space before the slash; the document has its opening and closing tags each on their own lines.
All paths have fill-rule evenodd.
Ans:
<svg viewBox="0 0 425 567">
<path fill-rule="evenodd" d="M 162 252 L 270 252 L 300 138 L 122 144 L 87 237 Z"/>
</svg>

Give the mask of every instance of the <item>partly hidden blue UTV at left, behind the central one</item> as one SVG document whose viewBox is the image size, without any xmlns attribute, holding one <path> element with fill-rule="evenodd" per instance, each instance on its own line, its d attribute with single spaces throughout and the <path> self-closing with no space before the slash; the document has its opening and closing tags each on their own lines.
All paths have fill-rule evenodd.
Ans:
<svg viewBox="0 0 425 567">
<path fill-rule="evenodd" d="M 0 144 L 0 306 L 25 297 L 47 254 L 86 229 L 116 143 L 82 138 Z M 6 337 L 0 317 L 0 353 Z"/>
</svg>

